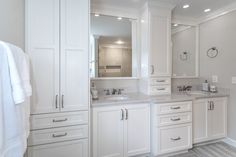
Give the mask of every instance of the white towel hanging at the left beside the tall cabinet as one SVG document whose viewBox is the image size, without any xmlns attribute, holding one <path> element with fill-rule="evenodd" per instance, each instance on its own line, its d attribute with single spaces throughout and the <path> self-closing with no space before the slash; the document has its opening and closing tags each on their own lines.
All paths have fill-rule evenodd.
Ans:
<svg viewBox="0 0 236 157">
<path fill-rule="evenodd" d="M 30 104 L 29 96 L 32 94 L 29 74 L 29 61 L 26 54 L 18 47 L 0 41 L 2 60 L 4 65 L 0 80 L 3 89 L 0 96 L 3 97 L 0 107 L 3 108 L 0 116 L 0 155 L 3 157 L 21 157 L 27 147 L 29 135 Z M 7 65 L 6 65 L 7 64 Z M 0 68 L 0 69 L 1 69 Z M 1 72 L 1 71 L 0 71 Z M 0 86 L 1 87 L 1 86 Z M 3 93 L 4 91 L 4 93 Z M 2 92 L 2 93 L 1 93 Z M 0 101 L 1 103 L 1 101 Z M 3 127 L 2 127 L 3 126 Z M 1 157 L 1 156 L 0 156 Z"/>
</svg>

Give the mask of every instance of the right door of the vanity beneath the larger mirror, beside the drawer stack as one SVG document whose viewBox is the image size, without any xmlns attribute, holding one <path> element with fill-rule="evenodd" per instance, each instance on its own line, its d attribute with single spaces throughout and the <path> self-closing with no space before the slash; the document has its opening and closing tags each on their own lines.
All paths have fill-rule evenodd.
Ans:
<svg viewBox="0 0 236 157">
<path fill-rule="evenodd" d="M 125 107 L 125 156 L 150 152 L 150 106 L 149 104 Z"/>
</svg>

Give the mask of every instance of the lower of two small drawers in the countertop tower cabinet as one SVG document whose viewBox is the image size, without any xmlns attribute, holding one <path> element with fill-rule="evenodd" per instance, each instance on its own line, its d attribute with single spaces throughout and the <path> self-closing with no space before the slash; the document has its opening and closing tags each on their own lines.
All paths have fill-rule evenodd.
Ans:
<svg viewBox="0 0 236 157">
<path fill-rule="evenodd" d="M 165 95 L 171 93 L 170 85 L 159 85 L 159 86 L 151 86 L 150 94 L 151 95 Z"/>
</svg>

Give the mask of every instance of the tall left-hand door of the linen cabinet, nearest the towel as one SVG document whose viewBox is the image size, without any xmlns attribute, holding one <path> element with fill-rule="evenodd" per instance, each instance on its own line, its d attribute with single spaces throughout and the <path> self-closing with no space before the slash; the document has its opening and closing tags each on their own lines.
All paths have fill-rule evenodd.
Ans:
<svg viewBox="0 0 236 157">
<path fill-rule="evenodd" d="M 58 112 L 59 0 L 26 0 L 26 51 L 32 64 L 31 113 Z"/>
</svg>

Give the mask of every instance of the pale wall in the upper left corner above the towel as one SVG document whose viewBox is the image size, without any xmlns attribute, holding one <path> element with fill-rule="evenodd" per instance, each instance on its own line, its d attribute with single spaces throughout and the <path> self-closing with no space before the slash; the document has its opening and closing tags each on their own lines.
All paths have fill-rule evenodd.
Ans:
<svg viewBox="0 0 236 157">
<path fill-rule="evenodd" d="M 0 0 L 0 40 L 24 49 L 24 0 Z"/>
</svg>

